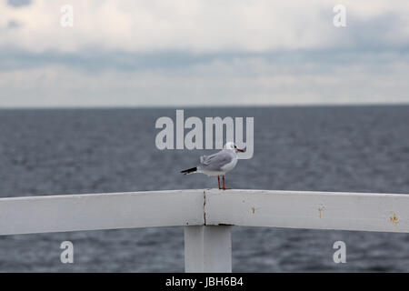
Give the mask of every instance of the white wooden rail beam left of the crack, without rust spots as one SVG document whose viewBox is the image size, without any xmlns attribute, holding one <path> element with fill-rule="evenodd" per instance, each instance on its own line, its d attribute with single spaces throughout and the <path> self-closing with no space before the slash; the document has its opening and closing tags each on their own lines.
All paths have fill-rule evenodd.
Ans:
<svg viewBox="0 0 409 291">
<path fill-rule="evenodd" d="M 203 225 L 204 190 L 0 198 L 0 235 Z"/>
</svg>

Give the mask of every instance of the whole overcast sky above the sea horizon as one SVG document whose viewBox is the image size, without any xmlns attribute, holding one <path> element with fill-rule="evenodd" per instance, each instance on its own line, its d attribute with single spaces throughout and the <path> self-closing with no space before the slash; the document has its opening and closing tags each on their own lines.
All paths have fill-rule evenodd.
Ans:
<svg viewBox="0 0 409 291">
<path fill-rule="evenodd" d="M 66 4 L 73 27 L 60 24 Z M 0 0 L 0 107 L 396 104 L 408 92 L 408 1 Z"/>
</svg>

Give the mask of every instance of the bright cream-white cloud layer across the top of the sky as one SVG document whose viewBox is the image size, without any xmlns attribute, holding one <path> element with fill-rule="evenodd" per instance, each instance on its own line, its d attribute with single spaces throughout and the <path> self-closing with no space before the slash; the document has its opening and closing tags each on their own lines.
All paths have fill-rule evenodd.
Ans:
<svg viewBox="0 0 409 291">
<path fill-rule="evenodd" d="M 87 46 L 128 52 L 182 50 L 265 52 L 341 46 L 408 44 L 409 4 L 344 1 L 347 27 L 333 25 L 334 1 L 153 0 L 74 2 L 74 27 L 61 27 L 66 1 L 37 0 L 5 9 L 24 29 L 0 35 L 2 46 L 76 52 Z M 392 8 L 393 7 L 393 8 Z M 35 33 L 32 33 L 35 32 Z"/>
</svg>

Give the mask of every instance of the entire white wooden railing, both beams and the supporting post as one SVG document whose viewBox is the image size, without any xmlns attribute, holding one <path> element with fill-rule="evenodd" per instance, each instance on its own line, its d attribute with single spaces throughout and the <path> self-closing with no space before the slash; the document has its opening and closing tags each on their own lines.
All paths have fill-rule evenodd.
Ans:
<svg viewBox="0 0 409 291">
<path fill-rule="evenodd" d="M 186 272 L 231 272 L 231 226 L 409 232 L 403 194 L 197 189 L 0 198 L 0 235 L 185 226 Z"/>
</svg>

